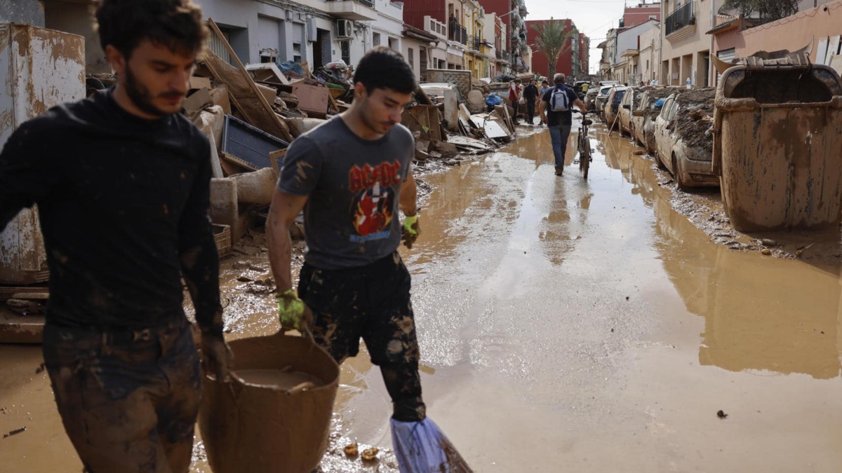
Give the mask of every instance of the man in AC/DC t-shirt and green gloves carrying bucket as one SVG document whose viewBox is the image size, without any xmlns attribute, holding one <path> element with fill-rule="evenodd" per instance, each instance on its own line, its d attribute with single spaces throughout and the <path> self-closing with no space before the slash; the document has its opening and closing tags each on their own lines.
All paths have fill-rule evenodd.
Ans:
<svg viewBox="0 0 842 473">
<path fill-rule="evenodd" d="M 401 454 L 406 444 L 419 444 L 415 436 L 436 433 L 434 444 L 446 441 L 421 396 L 412 281 L 397 252 L 402 240 L 411 248 L 418 237 L 415 146 L 400 125 L 415 88 L 397 52 L 377 46 L 363 56 L 350 109 L 292 142 L 267 223 L 281 326 L 312 328 L 315 342 L 340 364 L 359 353 L 360 337 L 365 341 L 392 397 L 392 441 L 405 472 L 416 471 Z M 288 229 L 302 209 L 307 251 L 296 291 Z M 438 453 L 448 471 L 464 471 Z"/>
</svg>

